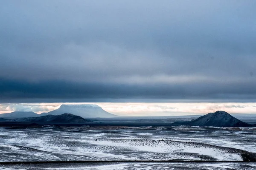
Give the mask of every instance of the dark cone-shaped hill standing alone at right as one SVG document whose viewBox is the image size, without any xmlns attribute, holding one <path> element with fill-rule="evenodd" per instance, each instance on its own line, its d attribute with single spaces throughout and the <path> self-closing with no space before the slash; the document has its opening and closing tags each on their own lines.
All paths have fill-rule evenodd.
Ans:
<svg viewBox="0 0 256 170">
<path fill-rule="evenodd" d="M 231 116 L 225 111 L 216 111 L 208 113 L 198 119 L 188 122 L 175 122 L 172 125 L 189 125 L 189 126 L 215 126 L 215 127 L 249 127 L 248 123 Z"/>
</svg>

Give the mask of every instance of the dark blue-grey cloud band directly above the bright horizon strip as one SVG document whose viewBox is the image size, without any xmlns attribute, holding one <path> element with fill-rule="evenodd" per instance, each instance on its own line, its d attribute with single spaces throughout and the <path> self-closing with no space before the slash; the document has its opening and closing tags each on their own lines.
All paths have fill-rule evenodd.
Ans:
<svg viewBox="0 0 256 170">
<path fill-rule="evenodd" d="M 241 90 L 243 89 L 243 90 Z M 255 102 L 252 83 L 103 84 L 1 80 L 2 102 Z M 123 100 L 125 99 L 125 100 Z M 151 99 L 151 100 L 147 100 Z M 155 100 L 157 99 L 157 100 Z M 193 99 L 193 100 L 191 100 Z"/>
</svg>

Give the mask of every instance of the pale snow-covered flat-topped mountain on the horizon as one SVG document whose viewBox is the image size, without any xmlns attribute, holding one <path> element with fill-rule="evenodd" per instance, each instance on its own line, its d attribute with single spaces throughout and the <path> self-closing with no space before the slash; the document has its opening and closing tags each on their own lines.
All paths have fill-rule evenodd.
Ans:
<svg viewBox="0 0 256 170">
<path fill-rule="evenodd" d="M 84 118 L 111 118 L 111 117 L 119 117 L 114 114 L 108 113 L 104 111 L 101 107 L 98 105 L 87 105 L 87 104 L 81 104 L 81 105 L 61 105 L 60 108 L 50 111 L 48 113 L 41 113 L 41 116 L 45 115 L 60 115 L 63 113 L 71 113 L 73 115 L 81 116 Z"/>
</svg>

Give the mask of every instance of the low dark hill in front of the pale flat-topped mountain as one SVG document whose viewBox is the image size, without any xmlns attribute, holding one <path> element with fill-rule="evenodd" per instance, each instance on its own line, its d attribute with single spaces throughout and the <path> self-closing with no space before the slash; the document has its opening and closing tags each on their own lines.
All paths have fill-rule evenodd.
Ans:
<svg viewBox="0 0 256 170">
<path fill-rule="evenodd" d="M 80 116 L 76 116 L 70 113 L 64 113 L 61 115 L 47 115 L 39 117 L 28 117 L 13 119 L 13 122 L 34 122 L 34 123 L 87 123 L 92 122 L 86 120 Z"/>
</svg>

